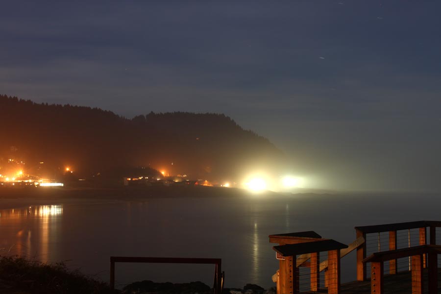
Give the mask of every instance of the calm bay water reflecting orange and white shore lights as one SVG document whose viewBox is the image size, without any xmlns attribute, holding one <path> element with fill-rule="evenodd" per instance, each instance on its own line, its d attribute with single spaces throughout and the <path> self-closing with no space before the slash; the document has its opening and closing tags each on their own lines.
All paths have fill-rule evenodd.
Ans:
<svg viewBox="0 0 441 294">
<path fill-rule="evenodd" d="M 0 210 L 1 255 L 66 261 L 108 281 L 110 256 L 222 258 L 226 287 L 274 286 L 278 262 L 268 235 L 314 230 L 349 244 L 354 226 L 441 220 L 435 194 L 265 195 L 167 198 Z M 150 279 L 212 284 L 214 266 L 117 264 L 116 283 Z M 342 279 L 355 279 L 354 252 L 342 260 Z"/>
</svg>

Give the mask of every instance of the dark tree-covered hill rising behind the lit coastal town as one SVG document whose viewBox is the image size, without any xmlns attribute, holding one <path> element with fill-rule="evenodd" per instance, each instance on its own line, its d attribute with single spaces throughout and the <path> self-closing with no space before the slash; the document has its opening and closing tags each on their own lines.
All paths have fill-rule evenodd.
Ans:
<svg viewBox="0 0 441 294">
<path fill-rule="evenodd" d="M 0 139 L 0 167 L 13 156 L 30 170 L 45 162 L 48 169 L 71 166 L 83 174 L 150 167 L 223 180 L 282 157 L 267 139 L 223 114 L 150 112 L 129 120 L 98 108 L 8 96 L 0 96 Z"/>
</svg>

